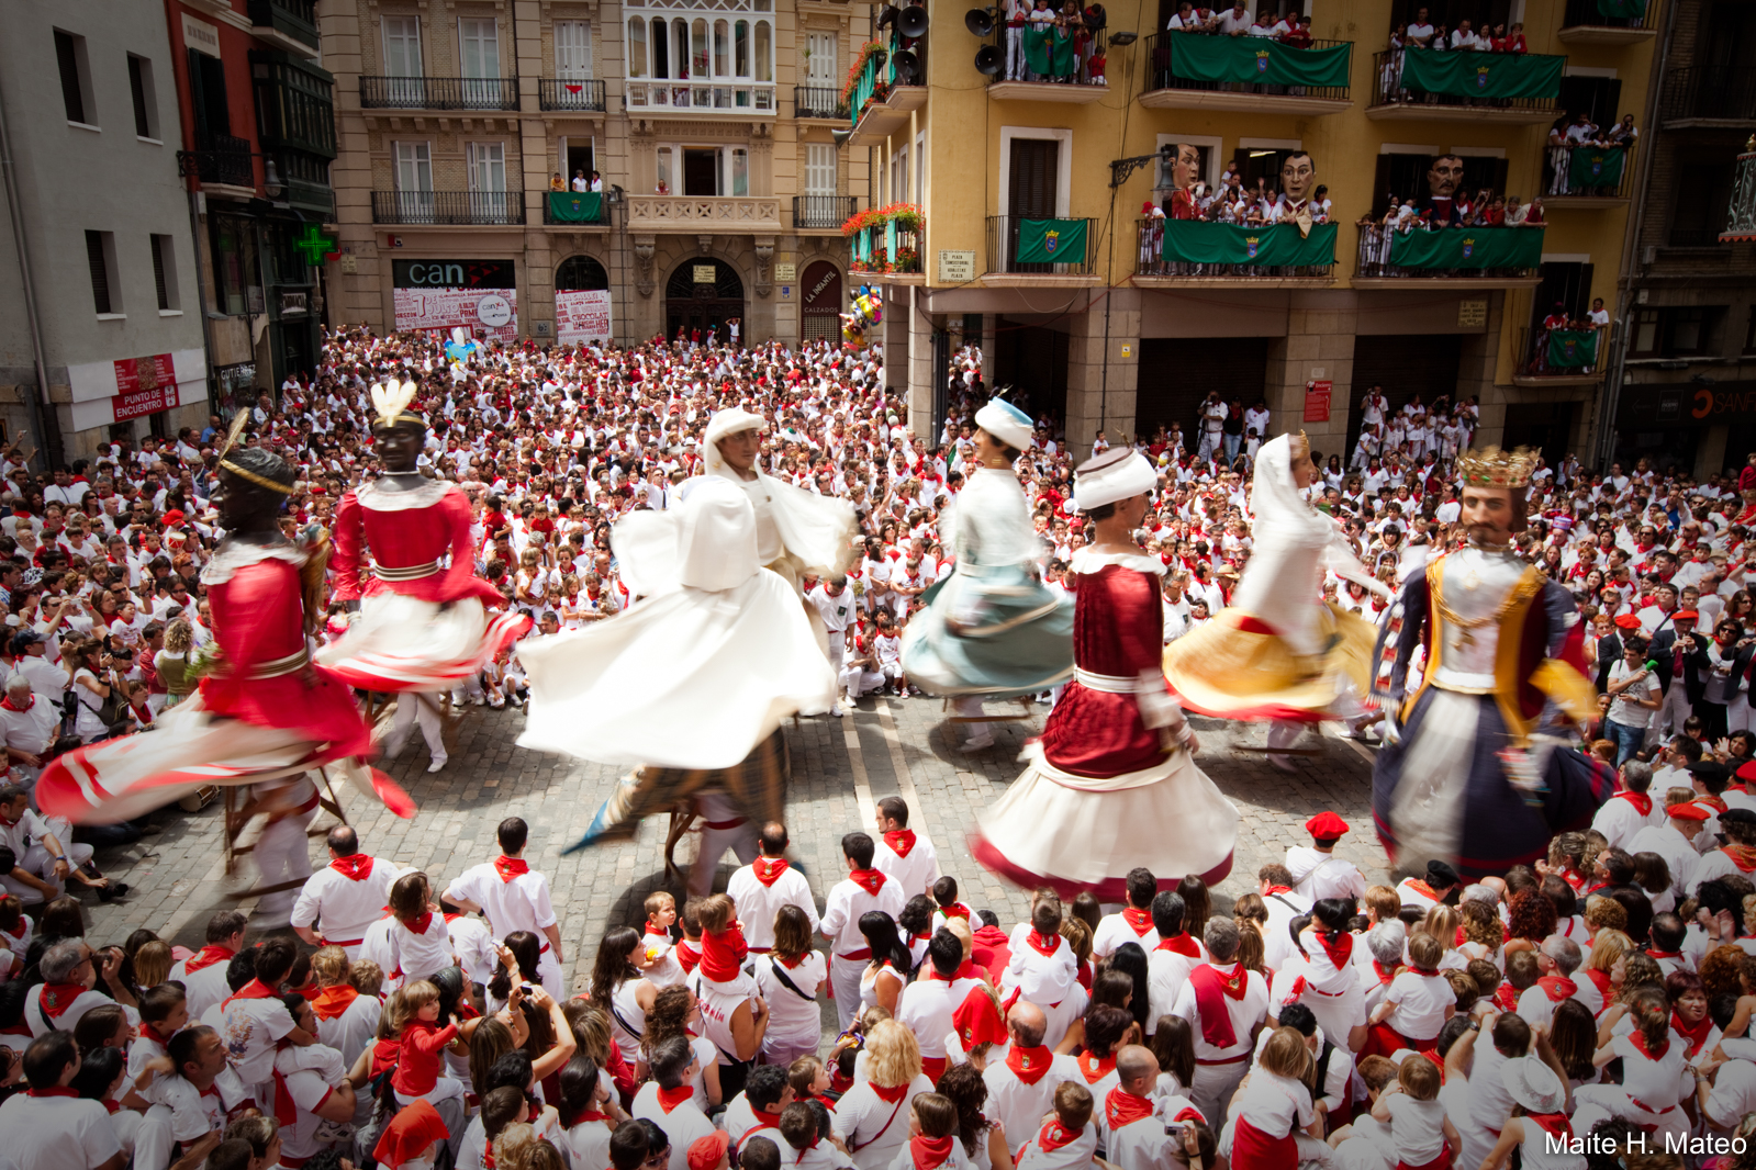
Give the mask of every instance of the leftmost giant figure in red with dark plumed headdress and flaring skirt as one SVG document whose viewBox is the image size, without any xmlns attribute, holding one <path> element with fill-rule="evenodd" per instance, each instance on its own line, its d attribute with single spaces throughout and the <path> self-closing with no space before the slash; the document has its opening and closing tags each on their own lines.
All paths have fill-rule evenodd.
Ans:
<svg viewBox="0 0 1756 1170">
<path fill-rule="evenodd" d="M 307 593 L 321 584 L 316 540 L 281 535 L 293 472 L 263 449 L 220 460 L 214 507 L 225 542 L 202 570 L 220 653 L 200 689 L 151 731 L 58 756 L 37 782 L 49 816 L 102 824 L 142 816 L 204 784 L 253 784 L 327 767 L 399 816 L 414 805 L 360 760 L 372 746 L 348 684 L 309 654 Z M 321 549 L 316 549 L 321 558 Z"/>
</svg>

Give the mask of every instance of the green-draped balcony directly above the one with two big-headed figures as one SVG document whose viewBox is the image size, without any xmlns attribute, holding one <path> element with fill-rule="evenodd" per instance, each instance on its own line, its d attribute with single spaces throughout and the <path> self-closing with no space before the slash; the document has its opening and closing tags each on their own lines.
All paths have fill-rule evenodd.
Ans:
<svg viewBox="0 0 1756 1170">
<path fill-rule="evenodd" d="M 1263 37 L 1147 37 L 1147 109 L 1335 114 L 1352 105 L 1350 40 L 1294 49 Z"/>
</svg>

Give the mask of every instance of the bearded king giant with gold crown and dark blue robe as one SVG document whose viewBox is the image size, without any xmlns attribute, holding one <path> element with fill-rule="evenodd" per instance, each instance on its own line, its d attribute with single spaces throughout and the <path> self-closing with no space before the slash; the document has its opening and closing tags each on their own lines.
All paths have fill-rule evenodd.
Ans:
<svg viewBox="0 0 1756 1170">
<path fill-rule="evenodd" d="M 1393 609 L 1401 624 L 1387 633 L 1389 738 L 1371 810 L 1398 868 L 1440 858 L 1480 877 L 1589 824 L 1616 777 L 1561 737 L 1568 719 L 1591 717 L 1594 695 L 1572 595 L 1514 544 L 1535 454 L 1472 451 L 1457 470 L 1468 542 L 1410 577 Z M 1412 681 L 1417 647 L 1426 660 Z"/>
</svg>

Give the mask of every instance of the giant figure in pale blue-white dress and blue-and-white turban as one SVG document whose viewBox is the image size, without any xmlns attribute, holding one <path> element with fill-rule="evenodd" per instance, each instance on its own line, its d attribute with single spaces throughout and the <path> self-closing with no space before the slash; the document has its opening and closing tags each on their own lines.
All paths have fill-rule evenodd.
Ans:
<svg viewBox="0 0 1756 1170">
<path fill-rule="evenodd" d="M 994 398 L 976 412 L 976 460 L 941 521 L 955 572 L 922 595 L 927 603 L 903 633 L 903 670 L 929 695 L 948 695 L 976 719 L 982 700 L 1036 695 L 1073 677 L 1073 602 L 1041 582 L 1047 549 L 1013 463 L 1031 449 L 1034 426 L 1018 407 Z M 994 744 L 975 723 L 962 751 Z"/>
</svg>

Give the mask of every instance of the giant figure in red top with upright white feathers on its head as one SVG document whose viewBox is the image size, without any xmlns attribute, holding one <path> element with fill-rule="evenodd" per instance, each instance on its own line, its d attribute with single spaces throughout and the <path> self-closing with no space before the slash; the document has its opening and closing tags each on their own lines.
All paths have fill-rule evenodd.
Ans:
<svg viewBox="0 0 1756 1170">
<path fill-rule="evenodd" d="M 469 500 L 457 484 L 416 470 L 427 419 L 407 409 L 413 398 L 414 382 L 372 386 L 372 447 L 385 475 L 341 498 L 330 556 L 330 598 L 358 605 L 360 614 L 318 661 L 349 686 L 406 695 L 385 754 L 402 753 L 418 716 L 432 753 L 428 772 L 437 772 L 446 751 L 434 693 L 476 677 L 530 619 L 504 609 L 488 619 L 485 605 L 504 598 L 476 577 Z"/>
</svg>

